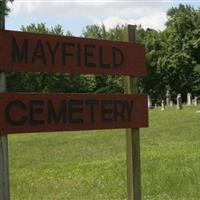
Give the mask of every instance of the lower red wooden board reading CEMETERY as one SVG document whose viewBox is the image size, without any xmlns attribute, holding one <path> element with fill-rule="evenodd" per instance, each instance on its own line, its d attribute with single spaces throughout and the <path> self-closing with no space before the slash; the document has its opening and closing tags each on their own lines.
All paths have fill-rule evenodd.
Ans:
<svg viewBox="0 0 200 200">
<path fill-rule="evenodd" d="M 0 94 L 0 134 L 148 126 L 144 95 Z"/>
</svg>

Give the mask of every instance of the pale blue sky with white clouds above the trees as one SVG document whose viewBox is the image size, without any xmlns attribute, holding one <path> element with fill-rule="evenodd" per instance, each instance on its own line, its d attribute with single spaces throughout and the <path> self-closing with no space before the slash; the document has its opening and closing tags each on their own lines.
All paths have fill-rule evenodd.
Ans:
<svg viewBox="0 0 200 200">
<path fill-rule="evenodd" d="M 200 0 L 14 0 L 8 3 L 6 29 L 43 22 L 48 27 L 60 24 L 74 36 L 92 24 L 104 24 L 107 30 L 117 24 L 136 24 L 162 31 L 167 10 L 180 3 L 200 8 Z"/>
</svg>

